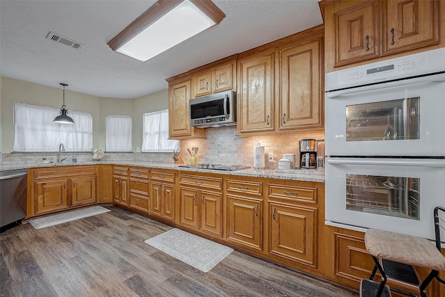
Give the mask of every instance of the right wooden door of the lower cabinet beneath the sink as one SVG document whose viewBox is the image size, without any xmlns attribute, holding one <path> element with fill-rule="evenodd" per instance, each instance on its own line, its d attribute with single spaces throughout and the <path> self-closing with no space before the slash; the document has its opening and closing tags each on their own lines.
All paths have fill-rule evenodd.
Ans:
<svg viewBox="0 0 445 297">
<path fill-rule="evenodd" d="M 72 206 L 97 202 L 96 177 L 72 178 Z"/>
</svg>

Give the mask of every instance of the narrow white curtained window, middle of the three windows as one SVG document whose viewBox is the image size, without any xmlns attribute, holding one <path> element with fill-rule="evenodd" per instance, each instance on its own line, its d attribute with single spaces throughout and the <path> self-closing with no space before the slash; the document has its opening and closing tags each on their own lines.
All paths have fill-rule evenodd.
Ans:
<svg viewBox="0 0 445 297">
<path fill-rule="evenodd" d="M 131 127 L 131 116 L 129 115 L 106 115 L 106 151 L 131 152 Z"/>
</svg>

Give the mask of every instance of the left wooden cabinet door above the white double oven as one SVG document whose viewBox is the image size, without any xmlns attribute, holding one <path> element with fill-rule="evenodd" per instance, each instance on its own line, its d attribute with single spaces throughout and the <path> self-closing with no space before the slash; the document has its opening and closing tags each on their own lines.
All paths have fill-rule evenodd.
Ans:
<svg viewBox="0 0 445 297">
<path fill-rule="evenodd" d="M 380 54 L 379 2 L 346 2 L 354 6 L 334 13 L 334 36 L 327 36 L 334 38 L 334 66 L 376 58 Z M 355 5 L 356 3 L 359 4 Z"/>
</svg>

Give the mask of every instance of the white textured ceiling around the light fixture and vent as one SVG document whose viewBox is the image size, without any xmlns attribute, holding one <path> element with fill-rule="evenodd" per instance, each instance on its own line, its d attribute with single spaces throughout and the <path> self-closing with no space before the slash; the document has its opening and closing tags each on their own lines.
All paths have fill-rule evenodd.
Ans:
<svg viewBox="0 0 445 297">
<path fill-rule="evenodd" d="M 227 15 L 142 63 L 107 42 L 155 0 L 0 1 L 0 74 L 97 97 L 137 98 L 165 90 L 166 78 L 322 24 L 318 0 L 213 0 Z M 47 39 L 49 32 L 80 49 Z"/>
</svg>

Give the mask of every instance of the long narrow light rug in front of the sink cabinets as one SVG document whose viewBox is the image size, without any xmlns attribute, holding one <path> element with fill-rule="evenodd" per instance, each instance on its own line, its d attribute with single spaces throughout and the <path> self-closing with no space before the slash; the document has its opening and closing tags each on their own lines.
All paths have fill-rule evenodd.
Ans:
<svg viewBox="0 0 445 297">
<path fill-rule="evenodd" d="M 61 223 L 70 222 L 70 220 L 77 220 L 79 218 L 86 218 L 87 216 L 104 214 L 108 211 L 110 211 L 110 209 L 106 209 L 105 207 L 88 207 L 85 209 L 63 212 L 61 214 L 54 214 L 52 216 L 44 216 L 43 218 L 33 218 L 29 220 L 29 223 L 33 225 L 35 229 L 42 229 Z"/>
</svg>

